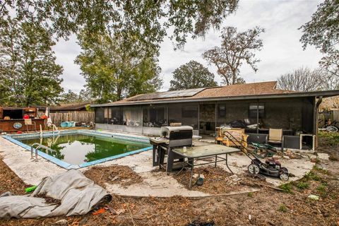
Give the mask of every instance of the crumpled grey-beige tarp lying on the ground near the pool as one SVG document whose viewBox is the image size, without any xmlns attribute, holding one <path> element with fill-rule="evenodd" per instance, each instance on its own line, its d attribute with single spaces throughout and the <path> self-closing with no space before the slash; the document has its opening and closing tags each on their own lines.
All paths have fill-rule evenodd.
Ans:
<svg viewBox="0 0 339 226">
<path fill-rule="evenodd" d="M 61 204 L 46 203 L 36 195 L 59 199 Z M 112 196 L 76 169 L 46 177 L 28 196 L 0 197 L 0 218 L 42 218 L 84 215 Z"/>
</svg>

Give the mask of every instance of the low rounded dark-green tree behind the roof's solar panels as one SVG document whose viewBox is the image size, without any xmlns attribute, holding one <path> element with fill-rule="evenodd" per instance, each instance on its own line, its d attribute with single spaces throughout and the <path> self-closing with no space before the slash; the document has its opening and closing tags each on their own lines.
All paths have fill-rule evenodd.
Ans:
<svg viewBox="0 0 339 226">
<path fill-rule="evenodd" d="M 214 74 L 197 61 L 189 61 L 173 71 L 173 80 L 169 90 L 184 90 L 218 85 Z"/>
</svg>

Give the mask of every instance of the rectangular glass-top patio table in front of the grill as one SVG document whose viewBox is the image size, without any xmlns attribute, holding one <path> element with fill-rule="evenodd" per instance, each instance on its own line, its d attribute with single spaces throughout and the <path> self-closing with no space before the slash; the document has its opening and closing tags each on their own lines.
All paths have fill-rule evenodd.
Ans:
<svg viewBox="0 0 339 226">
<path fill-rule="evenodd" d="M 238 148 L 231 148 L 225 145 L 212 144 L 187 147 L 186 150 L 185 148 L 174 148 L 172 151 L 177 155 L 181 155 L 183 158 L 188 159 L 186 164 L 191 167 L 191 178 L 189 179 L 189 188 L 191 188 L 194 166 L 214 163 L 215 167 L 217 167 L 217 162 L 225 161 L 227 168 L 230 169 L 227 164 L 227 155 L 230 153 L 237 153 L 240 150 Z M 221 157 L 220 155 L 225 155 L 225 157 Z M 194 164 L 195 160 L 203 160 L 210 157 L 215 157 L 215 161 Z M 232 172 L 231 169 L 230 172 Z"/>
</svg>

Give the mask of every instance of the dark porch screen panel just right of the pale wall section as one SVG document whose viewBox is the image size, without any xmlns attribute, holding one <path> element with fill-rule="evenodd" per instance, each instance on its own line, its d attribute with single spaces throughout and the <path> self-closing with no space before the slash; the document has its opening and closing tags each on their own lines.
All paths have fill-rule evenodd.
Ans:
<svg viewBox="0 0 339 226">
<path fill-rule="evenodd" d="M 165 107 L 145 107 L 143 109 L 143 126 L 161 127 L 167 126 L 167 112 Z"/>
</svg>

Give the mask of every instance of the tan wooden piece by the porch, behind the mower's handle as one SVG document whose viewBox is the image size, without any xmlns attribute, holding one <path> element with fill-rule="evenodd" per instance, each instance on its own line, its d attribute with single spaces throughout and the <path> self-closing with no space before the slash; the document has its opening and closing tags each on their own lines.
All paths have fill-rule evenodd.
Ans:
<svg viewBox="0 0 339 226">
<path fill-rule="evenodd" d="M 227 132 L 226 132 L 227 131 Z M 227 145 L 227 147 L 236 146 L 236 147 L 245 147 L 247 148 L 247 137 L 244 129 L 232 128 L 222 130 L 224 138 L 222 143 Z M 231 135 L 232 136 L 231 136 Z"/>
</svg>

